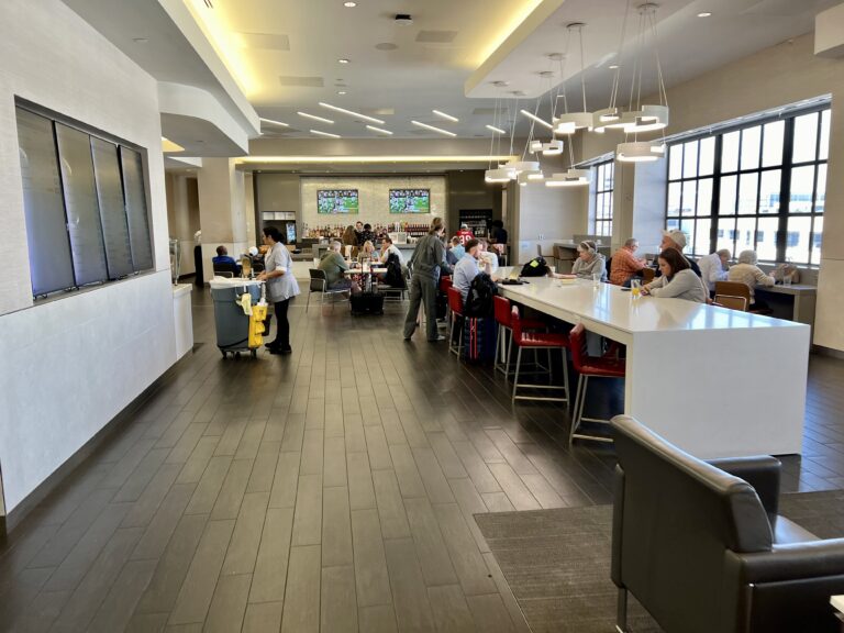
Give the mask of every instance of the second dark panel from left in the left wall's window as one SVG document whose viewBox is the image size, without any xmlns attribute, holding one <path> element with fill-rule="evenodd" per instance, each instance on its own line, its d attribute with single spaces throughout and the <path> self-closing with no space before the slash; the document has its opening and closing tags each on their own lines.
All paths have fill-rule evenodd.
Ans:
<svg viewBox="0 0 844 633">
<path fill-rule="evenodd" d="M 88 134 L 56 123 L 58 162 L 77 286 L 108 279 Z"/>
</svg>

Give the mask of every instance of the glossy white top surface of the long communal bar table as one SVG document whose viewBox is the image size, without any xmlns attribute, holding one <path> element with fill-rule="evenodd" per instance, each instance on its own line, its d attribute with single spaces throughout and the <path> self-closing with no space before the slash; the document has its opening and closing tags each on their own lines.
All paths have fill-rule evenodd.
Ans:
<svg viewBox="0 0 844 633">
<path fill-rule="evenodd" d="M 629 333 L 666 331 L 707 331 L 771 327 L 807 327 L 802 323 L 782 321 L 749 312 L 696 303 L 684 299 L 641 297 L 633 299 L 619 286 L 578 279 L 562 285 L 547 277 L 525 279 L 522 286 L 500 286 L 502 293 L 526 304 L 542 303 L 568 315 L 568 322 L 581 319 L 603 323 Z"/>
</svg>

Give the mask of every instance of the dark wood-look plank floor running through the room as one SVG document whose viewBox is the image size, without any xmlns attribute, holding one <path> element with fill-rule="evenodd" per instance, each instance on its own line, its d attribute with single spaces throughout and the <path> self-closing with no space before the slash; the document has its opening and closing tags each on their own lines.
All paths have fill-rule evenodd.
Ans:
<svg viewBox="0 0 844 633">
<path fill-rule="evenodd" d="M 197 349 L 0 549 L 2 631 L 526 631 L 474 513 L 611 501 L 612 449 L 402 306 L 290 310 L 291 356 Z M 788 490 L 844 487 L 844 363 L 813 357 Z"/>
</svg>

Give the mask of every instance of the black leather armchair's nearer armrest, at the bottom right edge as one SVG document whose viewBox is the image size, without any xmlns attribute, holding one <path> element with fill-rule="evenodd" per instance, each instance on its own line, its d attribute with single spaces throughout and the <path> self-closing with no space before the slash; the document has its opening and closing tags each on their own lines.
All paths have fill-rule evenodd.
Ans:
<svg viewBox="0 0 844 633">
<path fill-rule="evenodd" d="M 726 556 L 743 585 L 844 574 L 844 538 L 775 545 L 770 552 L 753 554 L 728 551 Z"/>
</svg>

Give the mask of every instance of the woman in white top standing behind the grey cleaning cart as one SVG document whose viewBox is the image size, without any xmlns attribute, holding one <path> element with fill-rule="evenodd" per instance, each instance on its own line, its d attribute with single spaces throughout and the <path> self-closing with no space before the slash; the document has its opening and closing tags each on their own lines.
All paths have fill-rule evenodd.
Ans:
<svg viewBox="0 0 844 633">
<path fill-rule="evenodd" d="M 290 322 L 287 309 L 290 300 L 299 295 L 299 284 L 293 277 L 293 260 L 290 252 L 281 244 L 281 234 L 275 226 L 264 227 L 264 244 L 269 251 L 264 257 L 264 273 L 258 279 L 267 282 L 267 298 L 276 313 L 276 340 L 267 345 L 270 354 L 290 354 Z"/>
</svg>

